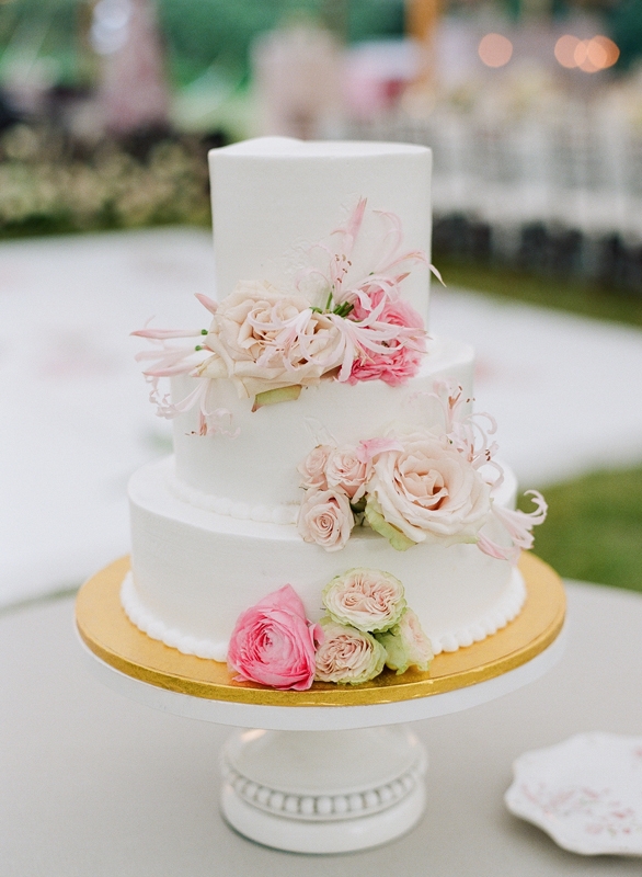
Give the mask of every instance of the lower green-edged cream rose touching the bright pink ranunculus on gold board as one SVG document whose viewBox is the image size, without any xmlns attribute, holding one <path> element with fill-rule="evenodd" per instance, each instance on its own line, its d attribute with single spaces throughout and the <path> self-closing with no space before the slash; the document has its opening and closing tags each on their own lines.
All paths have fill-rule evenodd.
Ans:
<svg viewBox="0 0 642 877">
<path fill-rule="evenodd" d="M 374 636 L 330 618 L 322 618 L 319 624 L 323 637 L 317 648 L 314 679 L 358 685 L 383 670 L 386 649 Z"/>
</svg>

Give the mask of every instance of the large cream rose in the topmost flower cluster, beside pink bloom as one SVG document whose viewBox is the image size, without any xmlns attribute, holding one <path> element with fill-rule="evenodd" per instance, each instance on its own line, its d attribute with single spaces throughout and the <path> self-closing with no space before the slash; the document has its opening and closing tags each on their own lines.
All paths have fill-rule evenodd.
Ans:
<svg viewBox="0 0 642 877">
<path fill-rule="evenodd" d="M 340 344 L 332 320 L 313 311 L 302 296 L 242 282 L 214 315 L 205 339 L 213 355 L 197 374 L 231 378 L 241 398 L 309 386 L 341 364 Z"/>
</svg>

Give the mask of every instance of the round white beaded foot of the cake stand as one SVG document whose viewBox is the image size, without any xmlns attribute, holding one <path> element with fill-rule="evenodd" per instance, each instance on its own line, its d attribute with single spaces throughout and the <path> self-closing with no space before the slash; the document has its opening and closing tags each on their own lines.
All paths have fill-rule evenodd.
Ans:
<svg viewBox="0 0 642 877">
<path fill-rule="evenodd" d="M 241 731 L 222 752 L 222 812 L 247 838 L 345 853 L 405 834 L 424 809 L 426 755 L 400 727 Z"/>
</svg>

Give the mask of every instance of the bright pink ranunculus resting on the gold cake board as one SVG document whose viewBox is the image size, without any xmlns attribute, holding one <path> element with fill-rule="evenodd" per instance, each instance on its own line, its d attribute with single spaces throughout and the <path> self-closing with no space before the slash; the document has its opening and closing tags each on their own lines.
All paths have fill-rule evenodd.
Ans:
<svg viewBox="0 0 642 877">
<path fill-rule="evenodd" d="M 240 682 L 301 692 L 313 682 L 314 641 L 321 637 L 321 628 L 306 618 L 300 597 L 286 584 L 239 616 L 228 665 Z"/>
</svg>

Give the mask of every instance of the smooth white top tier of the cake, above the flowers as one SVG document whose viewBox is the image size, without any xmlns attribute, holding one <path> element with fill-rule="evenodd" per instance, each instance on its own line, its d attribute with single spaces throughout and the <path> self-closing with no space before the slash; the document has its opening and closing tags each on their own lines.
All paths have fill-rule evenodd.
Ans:
<svg viewBox="0 0 642 877">
<path fill-rule="evenodd" d="M 260 137 L 209 152 L 216 296 L 240 281 L 268 281 L 295 291 L 310 265 L 311 248 L 330 235 L 359 198 L 368 213 L 359 236 L 366 265 L 368 241 L 380 246 L 372 210 L 395 214 L 403 249 L 431 247 L 432 153 L 423 146 L 381 143 L 303 143 Z M 376 253 L 380 255 L 380 253 Z M 359 253 L 355 253 L 359 258 Z M 427 265 L 413 269 L 403 297 L 427 320 Z"/>
</svg>

